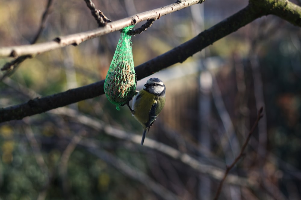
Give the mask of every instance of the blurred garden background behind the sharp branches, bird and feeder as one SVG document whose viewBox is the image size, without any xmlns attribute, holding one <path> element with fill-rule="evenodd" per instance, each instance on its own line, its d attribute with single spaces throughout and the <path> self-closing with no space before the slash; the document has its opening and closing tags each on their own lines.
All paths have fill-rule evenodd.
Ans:
<svg viewBox="0 0 301 200">
<path fill-rule="evenodd" d="M 114 21 L 174 1 L 93 2 Z M 0 46 L 33 41 L 46 4 L 0 1 Z M 135 66 L 247 4 L 207 0 L 161 17 L 132 36 Z M 54 0 L 37 42 L 97 26 L 85 1 Z M 25 60 L 0 82 L 0 107 L 104 79 L 119 36 Z M 299 27 L 265 16 L 155 73 L 166 85 L 166 104 L 144 146 L 129 109 L 117 111 L 105 95 L 0 124 L 0 199 L 213 199 L 261 106 L 264 116 L 219 199 L 301 199 L 300 38 Z M 8 61 L 0 59 L 1 67 Z"/>
</svg>

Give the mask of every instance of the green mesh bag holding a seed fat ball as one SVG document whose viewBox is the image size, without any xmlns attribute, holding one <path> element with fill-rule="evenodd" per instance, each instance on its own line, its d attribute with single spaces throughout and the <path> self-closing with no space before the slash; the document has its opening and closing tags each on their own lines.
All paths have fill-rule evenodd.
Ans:
<svg viewBox="0 0 301 200">
<path fill-rule="evenodd" d="M 119 106 L 128 103 L 136 91 L 132 40 L 131 36 L 126 34 L 133 27 L 134 25 L 122 29 L 104 82 L 104 93 L 108 100 L 116 105 L 117 110 L 120 110 Z"/>
</svg>

